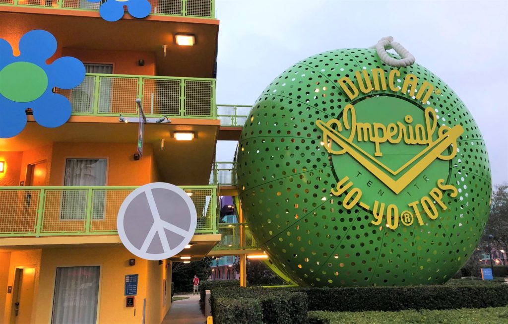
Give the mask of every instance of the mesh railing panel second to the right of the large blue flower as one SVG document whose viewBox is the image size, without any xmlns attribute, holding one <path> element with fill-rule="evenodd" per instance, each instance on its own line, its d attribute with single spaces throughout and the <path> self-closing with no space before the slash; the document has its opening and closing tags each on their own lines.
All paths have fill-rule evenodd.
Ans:
<svg viewBox="0 0 508 324">
<path fill-rule="evenodd" d="M 136 114 L 138 78 L 100 77 L 99 113 Z"/>
</svg>

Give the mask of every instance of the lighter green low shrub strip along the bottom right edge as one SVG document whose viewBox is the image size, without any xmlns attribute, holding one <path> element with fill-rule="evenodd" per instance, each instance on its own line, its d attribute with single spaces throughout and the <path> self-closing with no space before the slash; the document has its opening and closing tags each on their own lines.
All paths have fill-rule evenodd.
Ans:
<svg viewBox="0 0 508 324">
<path fill-rule="evenodd" d="M 308 313 L 309 324 L 410 324 L 410 323 L 505 323 L 508 307 L 463 308 L 451 310 L 403 310 L 397 312 L 323 312 Z"/>
</svg>

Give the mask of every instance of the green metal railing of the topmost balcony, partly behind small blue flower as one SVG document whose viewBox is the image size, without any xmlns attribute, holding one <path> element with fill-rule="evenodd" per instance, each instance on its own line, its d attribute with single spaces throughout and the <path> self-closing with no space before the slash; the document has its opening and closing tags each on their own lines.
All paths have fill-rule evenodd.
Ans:
<svg viewBox="0 0 508 324">
<path fill-rule="evenodd" d="M 114 0 L 111 0 L 114 1 Z M 215 18 L 214 0 L 149 0 L 151 15 Z M 101 2 L 85 0 L 0 0 L 0 6 L 36 7 L 63 10 L 98 11 Z"/>
</svg>

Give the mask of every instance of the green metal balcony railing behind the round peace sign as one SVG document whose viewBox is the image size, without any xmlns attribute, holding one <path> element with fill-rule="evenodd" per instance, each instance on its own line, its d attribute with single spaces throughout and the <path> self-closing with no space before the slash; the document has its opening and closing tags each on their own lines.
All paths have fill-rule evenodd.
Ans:
<svg viewBox="0 0 508 324">
<path fill-rule="evenodd" d="M 0 187 L 0 237 L 114 235 L 123 200 L 136 187 Z M 196 206 L 196 233 L 216 234 L 217 188 L 181 186 Z"/>
</svg>

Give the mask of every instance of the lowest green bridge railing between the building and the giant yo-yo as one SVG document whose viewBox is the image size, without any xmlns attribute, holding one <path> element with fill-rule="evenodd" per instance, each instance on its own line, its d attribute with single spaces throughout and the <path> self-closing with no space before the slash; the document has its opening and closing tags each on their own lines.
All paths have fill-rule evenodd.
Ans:
<svg viewBox="0 0 508 324">
<path fill-rule="evenodd" d="M 221 223 L 219 234 L 221 240 L 212 250 L 259 249 L 246 223 Z"/>
</svg>

